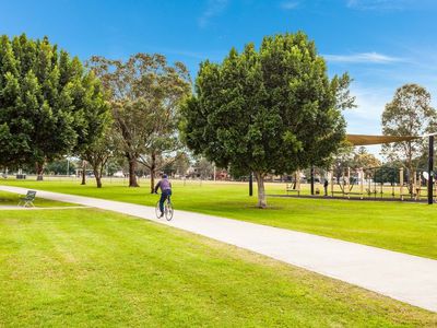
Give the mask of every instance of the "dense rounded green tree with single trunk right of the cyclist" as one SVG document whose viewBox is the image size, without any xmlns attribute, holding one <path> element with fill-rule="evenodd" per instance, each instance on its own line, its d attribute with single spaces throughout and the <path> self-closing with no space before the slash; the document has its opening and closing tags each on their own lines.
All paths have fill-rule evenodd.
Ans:
<svg viewBox="0 0 437 328">
<path fill-rule="evenodd" d="M 222 63 L 200 66 L 184 107 L 187 144 L 234 174 L 253 172 L 264 208 L 267 174 L 323 165 L 344 140 L 349 82 L 329 79 L 304 33 L 264 37 L 259 50 L 233 48 Z"/>
</svg>

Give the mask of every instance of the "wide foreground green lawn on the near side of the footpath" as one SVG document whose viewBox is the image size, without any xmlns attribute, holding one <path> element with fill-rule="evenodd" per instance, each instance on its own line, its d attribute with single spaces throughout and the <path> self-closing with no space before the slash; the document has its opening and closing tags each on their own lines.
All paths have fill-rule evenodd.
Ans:
<svg viewBox="0 0 437 328">
<path fill-rule="evenodd" d="M 437 325 L 437 314 L 111 212 L 0 211 L 0 327 Z"/>
</svg>

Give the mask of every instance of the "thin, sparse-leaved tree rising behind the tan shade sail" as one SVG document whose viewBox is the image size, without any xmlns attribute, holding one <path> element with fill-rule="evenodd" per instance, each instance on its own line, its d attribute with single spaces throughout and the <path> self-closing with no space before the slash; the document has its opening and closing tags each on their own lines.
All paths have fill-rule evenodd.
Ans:
<svg viewBox="0 0 437 328">
<path fill-rule="evenodd" d="M 399 87 L 393 99 L 382 113 L 382 133 L 385 136 L 423 136 L 436 132 L 437 112 L 430 106 L 430 94 L 417 84 Z M 426 139 L 393 142 L 382 145 L 382 153 L 390 161 L 404 163 L 411 173 L 417 169 L 418 161 L 426 147 Z M 412 179 L 410 179 L 412 180 Z M 410 185 L 412 181 L 410 181 Z"/>
</svg>

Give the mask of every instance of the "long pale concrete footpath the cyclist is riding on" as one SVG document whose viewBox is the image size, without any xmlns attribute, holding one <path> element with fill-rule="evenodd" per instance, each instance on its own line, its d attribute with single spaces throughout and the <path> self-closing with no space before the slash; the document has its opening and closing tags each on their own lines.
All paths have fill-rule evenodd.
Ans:
<svg viewBox="0 0 437 328">
<path fill-rule="evenodd" d="M 28 189 L 0 186 L 0 190 L 24 195 Z M 167 222 L 157 220 L 152 207 L 43 190 L 37 197 L 175 226 L 437 312 L 437 260 L 186 211 L 176 210 Z"/>
</svg>

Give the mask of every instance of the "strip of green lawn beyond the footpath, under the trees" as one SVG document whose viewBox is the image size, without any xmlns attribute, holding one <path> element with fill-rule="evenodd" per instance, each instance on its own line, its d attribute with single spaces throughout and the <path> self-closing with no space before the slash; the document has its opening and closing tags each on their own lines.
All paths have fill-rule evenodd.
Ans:
<svg viewBox="0 0 437 328">
<path fill-rule="evenodd" d="M 149 180 L 141 188 L 122 181 L 2 180 L 1 184 L 154 206 Z M 270 184 L 268 194 L 285 194 L 285 186 Z M 255 208 L 247 184 L 174 181 L 176 209 L 233 218 L 260 224 L 340 238 L 437 259 L 437 206 L 408 202 L 373 202 L 330 199 L 269 198 L 270 208 Z M 177 214 L 175 220 L 177 220 Z"/>
</svg>

